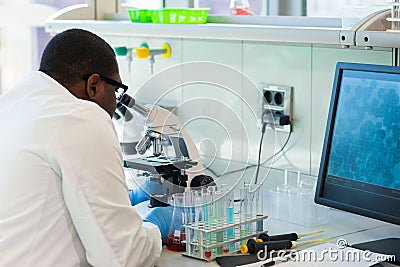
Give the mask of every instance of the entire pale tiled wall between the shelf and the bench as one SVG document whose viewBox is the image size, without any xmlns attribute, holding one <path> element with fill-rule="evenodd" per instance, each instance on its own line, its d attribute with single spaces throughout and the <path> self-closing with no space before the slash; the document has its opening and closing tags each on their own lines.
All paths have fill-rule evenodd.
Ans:
<svg viewBox="0 0 400 267">
<path fill-rule="evenodd" d="M 336 62 L 390 65 L 392 61 L 391 50 L 384 49 L 179 38 L 106 39 L 113 46 L 171 45 L 171 58 L 158 56 L 153 76 L 148 60 L 134 59 L 129 72 L 128 63 L 120 58 L 121 76 L 140 102 L 178 107 L 182 124 L 202 153 L 211 156 L 207 164 L 213 156 L 256 162 L 262 101 L 259 85 L 292 86 L 293 133 L 273 167 L 313 175 L 318 173 Z M 286 138 L 287 133 L 267 130 L 262 160 L 279 150 Z"/>
</svg>

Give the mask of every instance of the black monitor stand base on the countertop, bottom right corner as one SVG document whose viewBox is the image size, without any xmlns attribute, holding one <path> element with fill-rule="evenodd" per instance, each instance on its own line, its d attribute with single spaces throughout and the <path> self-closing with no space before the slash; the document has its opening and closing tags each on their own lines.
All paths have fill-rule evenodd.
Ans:
<svg viewBox="0 0 400 267">
<path fill-rule="evenodd" d="M 370 242 L 354 244 L 351 247 L 386 255 L 394 255 L 395 259 L 388 262 L 400 264 L 400 238 L 379 239 Z"/>
</svg>

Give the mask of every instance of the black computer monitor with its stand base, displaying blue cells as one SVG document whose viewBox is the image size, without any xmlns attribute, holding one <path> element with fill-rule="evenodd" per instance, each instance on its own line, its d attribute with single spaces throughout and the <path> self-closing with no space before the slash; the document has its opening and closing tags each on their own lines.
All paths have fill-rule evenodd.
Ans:
<svg viewBox="0 0 400 267">
<path fill-rule="evenodd" d="M 315 202 L 400 225 L 400 67 L 337 63 Z M 400 260 L 398 238 L 355 247 Z"/>
</svg>

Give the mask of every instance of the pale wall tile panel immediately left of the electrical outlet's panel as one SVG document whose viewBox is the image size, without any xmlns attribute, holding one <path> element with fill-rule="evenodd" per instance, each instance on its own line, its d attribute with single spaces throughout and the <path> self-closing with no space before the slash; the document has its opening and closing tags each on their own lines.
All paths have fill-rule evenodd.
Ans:
<svg viewBox="0 0 400 267">
<path fill-rule="evenodd" d="M 212 140 L 202 153 L 242 159 L 242 43 L 239 41 L 183 40 L 185 86 L 180 109 L 190 121 L 188 132 L 197 142 Z"/>
</svg>

